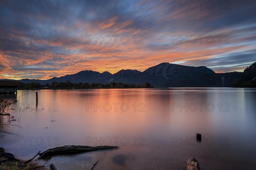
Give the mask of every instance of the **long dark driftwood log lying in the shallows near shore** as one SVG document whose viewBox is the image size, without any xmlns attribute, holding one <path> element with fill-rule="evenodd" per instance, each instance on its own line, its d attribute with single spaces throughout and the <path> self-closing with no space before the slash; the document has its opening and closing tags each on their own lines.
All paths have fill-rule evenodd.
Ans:
<svg viewBox="0 0 256 170">
<path fill-rule="evenodd" d="M 55 147 L 44 151 L 43 153 L 39 153 L 38 159 L 44 159 L 55 155 L 62 155 L 68 153 L 82 153 L 89 152 L 93 150 L 101 150 L 101 149 L 114 149 L 118 148 L 117 146 L 81 146 L 81 145 L 65 145 L 61 147 Z"/>
</svg>

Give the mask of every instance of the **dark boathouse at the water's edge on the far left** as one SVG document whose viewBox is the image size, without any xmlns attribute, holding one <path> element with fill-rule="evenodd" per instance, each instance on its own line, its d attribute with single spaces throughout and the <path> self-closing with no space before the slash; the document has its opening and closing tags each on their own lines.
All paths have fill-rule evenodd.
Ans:
<svg viewBox="0 0 256 170">
<path fill-rule="evenodd" d="M 19 82 L 16 80 L 0 80 L 0 93 L 17 94 Z"/>
</svg>

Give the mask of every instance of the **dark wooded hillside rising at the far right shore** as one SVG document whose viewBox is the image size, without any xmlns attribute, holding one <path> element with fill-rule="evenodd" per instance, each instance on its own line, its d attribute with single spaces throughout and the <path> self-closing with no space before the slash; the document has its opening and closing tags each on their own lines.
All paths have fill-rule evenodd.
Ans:
<svg viewBox="0 0 256 170">
<path fill-rule="evenodd" d="M 256 88 L 256 62 L 244 69 L 244 73 L 234 87 Z"/>
</svg>

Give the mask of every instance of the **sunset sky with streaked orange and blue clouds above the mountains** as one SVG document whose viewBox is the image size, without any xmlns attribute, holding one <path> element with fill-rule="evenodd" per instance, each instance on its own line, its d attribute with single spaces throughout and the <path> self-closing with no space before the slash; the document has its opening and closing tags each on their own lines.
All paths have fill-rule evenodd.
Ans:
<svg viewBox="0 0 256 170">
<path fill-rule="evenodd" d="M 255 61 L 255 0 L 0 1 L 0 79 Z"/>
</svg>

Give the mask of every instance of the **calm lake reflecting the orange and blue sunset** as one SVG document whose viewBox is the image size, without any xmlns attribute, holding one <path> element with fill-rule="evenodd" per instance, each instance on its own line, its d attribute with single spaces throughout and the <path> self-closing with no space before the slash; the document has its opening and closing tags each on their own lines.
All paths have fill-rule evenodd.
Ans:
<svg viewBox="0 0 256 170">
<path fill-rule="evenodd" d="M 93 169 L 185 170 L 196 157 L 203 170 L 256 167 L 256 89 L 45 89 L 37 106 L 35 92 L 1 95 L 17 99 L 10 113 L 20 128 L 1 127 L 0 144 L 19 159 L 62 145 L 116 145 L 46 166 L 90 169 L 99 160 Z"/>
</svg>

